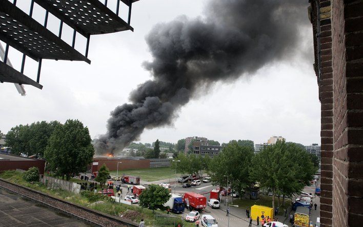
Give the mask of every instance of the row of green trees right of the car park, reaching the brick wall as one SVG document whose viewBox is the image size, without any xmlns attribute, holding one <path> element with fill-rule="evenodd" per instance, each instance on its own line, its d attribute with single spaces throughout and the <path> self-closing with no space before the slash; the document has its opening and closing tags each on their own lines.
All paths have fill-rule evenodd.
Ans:
<svg viewBox="0 0 363 227">
<path fill-rule="evenodd" d="M 232 140 L 222 152 L 210 158 L 195 154 L 179 153 L 172 168 L 181 174 L 203 170 L 209 173 L 215 185 L 227 185 L 239 195 L 259 184 L 273 197 L 291 197 L 309 185 L 319 162 L 297 143 L 278 141 L 254 154 L 253 142 Z M 316 161 L 317 160 L 317 161 Z M 175 166 L 176 165 L 176 166 Z M 227 177 L 228 176 L 228 177 Z M 274 199 L 273 209 L 275 209 Z"/>
</svg>

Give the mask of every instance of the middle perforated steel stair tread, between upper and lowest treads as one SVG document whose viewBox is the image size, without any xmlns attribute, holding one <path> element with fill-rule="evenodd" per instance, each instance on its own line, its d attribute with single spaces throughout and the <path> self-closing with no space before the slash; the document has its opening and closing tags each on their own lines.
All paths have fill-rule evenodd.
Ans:
<svg viewBox="0 0 363 227">
<path fill-rule="evenodd" d="M 8 0 L 0 0 L 0 39 L 34 60 L 91 61 Z"/>
</svg>

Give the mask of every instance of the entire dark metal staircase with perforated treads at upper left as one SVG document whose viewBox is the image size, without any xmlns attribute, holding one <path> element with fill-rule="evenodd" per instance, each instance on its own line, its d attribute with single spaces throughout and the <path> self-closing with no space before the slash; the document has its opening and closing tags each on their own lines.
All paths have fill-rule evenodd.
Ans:
<svg viewBox="0 0 363 227">
<path fill-rule="evenodd" d="M 24 1 L 24 0 L 22 0 Z M 132 3 L 138 0 L 116 0 L 116 10 L 107 7 L 107 0 L 28 0 L 30 12 L 25 13 L 16 6 L 16 0 L 0 0 L 0 40 L 6 44 L 3 61 L 0 61 L 0 82 L 19 85 L 32 85 L 42 89 L 39 84 L 42 59 L 78 60 L 91 64 L 88 57 L 90 36 L 131 30 Z M 46 10 L 44 24 L 32 18 L 34 4 Z M 118 16 L 120 4 L 128 7 L 128 22 Z M 58 35 L 47 29 L 48 15 L 60 20 Z M 73 29 L 72 44 L 62 40 L 63 23 Z M 87 38 L 84 54 L 74 49 L 76 34 Z M 7 64 L 9 46 L 23 53 L 21 69 Z M 26 57 L 38 62 L 36 81 L 24 75 Z"/>
</svg>

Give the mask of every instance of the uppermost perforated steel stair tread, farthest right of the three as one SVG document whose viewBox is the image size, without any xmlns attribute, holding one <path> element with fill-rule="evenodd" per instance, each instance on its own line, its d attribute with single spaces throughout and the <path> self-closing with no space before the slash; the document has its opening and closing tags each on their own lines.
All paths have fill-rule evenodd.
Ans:
<svg viewBox="0 0 363 227">
<path fill-rule="evenodd" d="M 35 2 L 85 37 L 125 30 L 133 31 L 129 24 L 98 0 L 35 0 Z"/>
</svg>

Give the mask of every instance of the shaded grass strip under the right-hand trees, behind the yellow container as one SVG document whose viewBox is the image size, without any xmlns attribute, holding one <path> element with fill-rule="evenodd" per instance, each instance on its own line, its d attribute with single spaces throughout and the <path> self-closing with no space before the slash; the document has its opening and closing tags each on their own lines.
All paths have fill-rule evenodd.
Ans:
<svg viewBox="0 0 363 227">
<path fill-rule="evenodd" d="M 231 202 L 231 198 L 229 200 Z M 280 204 L 283 202 L 283 198 L 280 198 Z M 282 205 L 279 209 L 279 215 L 284 214 L 284 209 L 289 207 L 291 201 L 285 198 L 285 204 Z M 246 210 L 247 208 L 251 209 L 253 205 L 264 205 L 266 207 L 272 208 L 272 196 L 264 196 L 259 195 L 259 199 L 234 199 L 233 204 L 238 205 L 238 208 Z M 275 207 L 277 207 L 277 197 L 275 198 Z"/>
</svg>

